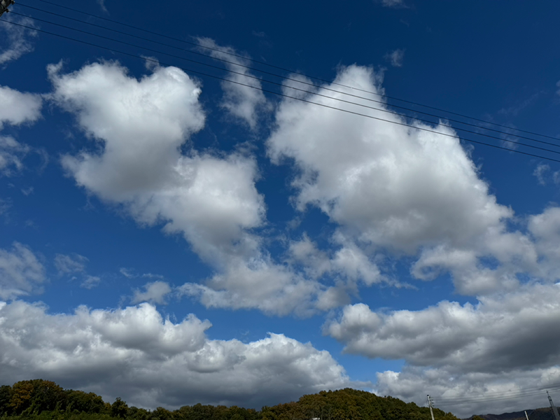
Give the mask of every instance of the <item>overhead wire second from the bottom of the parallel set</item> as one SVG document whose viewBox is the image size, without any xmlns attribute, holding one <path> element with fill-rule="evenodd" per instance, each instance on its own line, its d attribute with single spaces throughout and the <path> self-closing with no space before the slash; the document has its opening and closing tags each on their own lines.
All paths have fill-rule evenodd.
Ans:
<svg viewBox="0 0 560 420">
<path fill-rule="evenodd" d="M 113 41 L 113 42 L 117 42 L 117 43 L 122 43 L 122 44 L 124 44 L 124 45 L 129 45 L 129 46 L 132 46 L 132 47 L 134 47 L 134 48 L 141 48 L 141 49 L 144 49 L 144 50 L 147 50 L 147 51 L 150 51 L 150 52 L 155 52 L 155 53 L 157 53 L 157 54 L 163 54 L 163 55 L 167 55 L 167 56 L 169 56 L 169 57 L 174 57 L 174 58 L 177 58 L 177 59 L 184 59 L 184 60 L 186 60 L 186 61 L 188 61 L 188 62 L 193 62 L 193 63 L 195 63 L 195 64 L 200 64 L 200 65 L 202 65 L 202 66 L 211 67 L 211 68 L 213 68 L 213 69 L 218 69 L 218 70 L 221 70 L 221 71 L 228 71 L 228 73 L 237 74 L 237 75 L 239 75 L 239 76 L 244 76 L 244 77 L 247 77 L 247 78 L 253 78 L 253 79 L 255 79 L 255 80 L 259 80 L 259 81 L 262 81 L 262 82 L 265 82 L 265 83 L 269 83 L 269 84 L 272 84 L 272 85 L 277 85 L 277 86 L 281 86 L 281 87 L 286 87 L 286 88 L 289 88 L 289 89 L 292 89 L 292 90 L 297 90 L 297 91 L 304 92 L 304 93 L 307 93 L 307 94 L 312 94 L 312 95 L 314 95 L 314 96 L 324 97 L 324 98 L 332 99 L 332 100 L 335 100 L 335 101 L 338 101 L 338 102 L 344 102 L 344 103 L 346 103 L 346 104 L 351 104 L 351 105 L 356 105 L 356 106 L 360 106 L 360 107 L 367 108 L 367 109 L 372 109 L 372 110 L 374 110 L 374 111 L 380 111 L 380 112 L 384 112 L 384 113 L 391 113 L 391 114 L 393 114 L 393 115 L 401 116 L 401 117 L 404 117 L 404 118 L 411 118 L 412 120 L 420 121 L 420 122 L 422 122 L 422 123 L 433 124 L 432 121 L 430 121 L 430 120 L 424 120 L 423 118 L 409 117 L 409 116 L 406 116 L 405 114 L 397 113 L 397 112 L 395 112 L 395 111 L 391 111 L 391 110 L 387 110 L 387 109 L 380 109 L 380 108 L 376 108 L 376 107 L 374 107 L 374 106 L 368 106 L 368 105 L 365 105 L 365 104 L 358 104 L 358 103 L 356 103 L 356 102 L 351 102 L 351 101 L 346 101 L 345 99 L 330 97 L 330 96 L 328 96 L 328 95 L 320 94 L 320 93 L 317 93 L 317 92 L 310 92 L 309 90 L 300 89 L 299 87 L 288 86 L 288 85 L 284 85 L 283 83 L 274 82 L 274 81 L 272 81 L 272 80 L 261 79 L 261 78 L 258 78 L 258 77 L 256 77 L 256 76 L 252 76 L 252 75 L 249 75 L 249 74 L 246 74 L 246 73 L 239 73 L 239 72 L 237 72 L 237 71 L 232 71 L 232 70 L 228 70 L 228 69 L 223 69 L 223 67 L 220 67 L 220 66 L 214 66 L 213 64 L 207 64 L 207 63 L 199 62 L 199 61 L 197 61 L 197 60 L 189 59 L 189 58 L 186 58 L 186 57 L 181 57 L 181 56 L 179 56 L 179 55 L 169 54 L 168 52 L 162 52 L 162 51 L 159 51 L 159 50 L 154 50 L 153 48 L 147 48 L 147 47 L 144 47 L 143 45 L 136 45 L 136 44 L 129 43 L 129 42 L 126 42 L 126 41 L 119 41 L 119 40 L 117 40 L 117 39 L 110 38 L 109 36 L 103 36 L 103 35 L 99 35 L 99 34 L 94 34 L 94 33 L 92 33 L 92 32 L 84 31 L 83 29 L 77 29 L 77 28 L 69 27 L 69 26 L 67 26 L 67 25 L 62 25 L 62 24 L 59 24 L 59 23 L 56 23 L 56 22 L 50 22 L 50 21 L 48 21 L 48 20 L 44 20 L 44 19 L 40 19 L 40 18 L 34 18 L 34 17 L 32 17 L 32 16 L 23 15 L 22 13 L 16 13 L 16 12 L 12 12 L 12 13 L 15 14 L 15 15 L 24 16 L 24 17 L 26 17 L 26 18 L 31 18 L 31 19 L 36 20 L 36 21 L 38 21 L 38 22 L 48 23 L 48 24 L 50 24 L 50 25 L 55 25 L 55 26 L 57 26 L 57 27 L 62 27 L 62 28 L 64 28 L 64 29 L 70 29 L 70 30 L 72 30 L 72 31 L 77 31 L 77 32 L 80 32 L 80 33 L 82 33 L 82 34 L 87 34 L 87 35 L 90 35 L 90 36 L 96 36 L 97 38 L 102 38 L 102 39 L 106 39 L 106 40 L 109 40 L 109 41 Z M 11 22 L 10 22 L 10 23 L 11 23 Z M 37 30 L 37 29 L 34 29 L 34 30 Z M 170 64 L 170 65 L 171 65 L 171 64 Z M 190 70 L 190 71 L 192 72 L 193 70 Z M 204 73 L 202 73 L 202 74 L 204 74 Z M 205 76 L 210 76 L 210 77 L 216 77 L 216 76 L 211 76 L 211 75 L 207 75 L 207 74 L 204 74 L 204 75 L 205 75 Z M 233 80 L 229 80 L 229 79 L 223 79 L 223 78 L 222 78 L 221 80 L 226 80 L 226 81 L 228 81 L 228 82 L 233 82 Z M 237 82 L 236 82 L 236 83 L 237 83 Z M 243 83 L 240 83 L 240 84 L 241 84 L 241 85 L 244 85 Z M 248 87 L 253 87 L 253 86 L 251 86 L 251 85 L 246 85 L 246 86 L 248 86 Z M 260 89 L 260 88 L 258 88 L 258 87 L 255 87 L 255 88 Z M 270 93 L 276 94 L 276 92 L 271 92 L 271 91 L 267 91 L 267 90 L 263 90 L 263 92 L 270 92 Z M 311 103 L 315 103 L 315 102 L 311 102 Z M 315 103 L 315 104 L 316 104 L 316 103 Z M 337 108 L 335 108 L 335 107 L 332 107 L 332 108 L 333 108 L 333 109 L 337 109 Z M 373 116 L 369 116 L 369 117 L 370 117 L 370 118 L 377 119 L 377 120 L 383 120 L 382 118 L 376 118 L 376 117 L 373 117 Z M 419 129 L 420 129 L 420 127 L 416 127 L 416 126 L 413 126 L 413 125 L 407 125 L 407 126 L 409 126 L 409 127 L 414 127 L 414 128 L 419 128 Z M 469 134 L 475 134 L 475 135 L 477 135 L 477 136 L 487 137 L 487 138 L 489 138 L 489 139 L 497 139 L 497 140 L 500 140 L 500 141 L 504 141 L 504 142 L 506 142 L 506 143 L 514 144 L 514 145 L 516 145 L 516 146 L 526 146 L 526 147 L 528 147 L 528 148 L 534 148 L 534 149 L 537 149 L 537 150 L 540 150 L 540 151 L 546 151 L 546 152 L 549 152 L 549 153 L 560 154 L 560 151 L 552 151 L 552 150 L 550 150 L 550 149 L 548 149 L 548 148 L 542 148 L 542 147 L 539 147 L 539 146 L 533 146 L 533 145 L 531 145 L 531 144 L 524 144 L 524 143 L 520 143 L 519 141 L 514 141 L 514 140 L 510 140 L 510 139 L 503 139 L 502 137 L 493 136 L 493 135 L 491 135 L 491 134 L 485 134 L 485 133 L 475 132 L 475 131 L 467 130 L 467 129 L 461 128 L 461 127 L 454 127 L 454 129 L 455 129 L 455 130 L 458 130 L 458 131 L 461 131 L 461 132 L 466 132 L 466 133 L 469 133 Z M 423 129 L 421 129 L 421 130 L 423 130 Z M 435 131 L 432 130 L 432 132 L 435 132 Z M 437 133 L 439 133 L 439 132 L 437 132 Z M 504 133 L 503 133 L 503 134 L 504 134 Z M 559 144 L 552 144 L 552 143 L 549 143 L 549 142 L 547 142 L 547 141 L 536 140 L 536 139 L 528 139 L 528 140 L 535 141 L 535 142 L 538 142 L 538 143 L 541 143 L 541 144 L 547 144 L 547 145 L 549 145 L 549 146 L 560 147 Z"/>
</svg>

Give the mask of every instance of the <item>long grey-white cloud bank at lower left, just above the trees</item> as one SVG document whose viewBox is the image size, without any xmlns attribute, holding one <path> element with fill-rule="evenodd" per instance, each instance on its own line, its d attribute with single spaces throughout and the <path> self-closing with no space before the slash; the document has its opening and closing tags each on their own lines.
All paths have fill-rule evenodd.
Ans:
<svg viewBox="0 0 560 420">
<path fill-rule="evenodd" d="M 272 405 L 351 385 L 327 351 L 284 335 L 247 344 L 207 339 L 209 321 L 164 319 L 151 304 L 52 315 L 40 304 L 0 304 L 7 383 L 43 377 L 155 408 L 196 402 Z"/>
</svg>

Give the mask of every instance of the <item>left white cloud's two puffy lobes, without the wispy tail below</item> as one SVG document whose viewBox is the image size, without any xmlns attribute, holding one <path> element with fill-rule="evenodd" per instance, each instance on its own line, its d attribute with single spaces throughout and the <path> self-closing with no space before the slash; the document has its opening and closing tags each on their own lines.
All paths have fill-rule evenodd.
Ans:
<svg viewBox="0 0 560 420">
<path fill-rule="evenodd" d="M 100 153 L 64 156 L 78 185 L 125 205 L 139 223 L 165 223 L 205 260 L 246 252 L 245 230 L 262 223 L 251 158 L 181 155 L 179 147 L 204 125 L 200 87 L 183 71 L 155 68 L 141 80 L 117 63 L 91 64 L 60 75 L 50 66 L 53 98 L 78 117 L 102 145 Z"/>
</svg>

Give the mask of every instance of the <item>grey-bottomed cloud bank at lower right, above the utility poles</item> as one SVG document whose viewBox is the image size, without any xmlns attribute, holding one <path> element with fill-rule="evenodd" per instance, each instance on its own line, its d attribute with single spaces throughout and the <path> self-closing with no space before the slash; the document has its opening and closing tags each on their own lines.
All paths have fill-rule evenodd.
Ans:
<svg viewBox="0 0 560 420">
<path fill-rule="evenodd" d="M 420 403 L 430 393 L 443 395 L 443 403 L 559 382 L 560 339 L 550 333 L 559 322 L 560 286 L 536 283 L 479 297 L 477 304 L 443 301 L 420 311 L 372 311 L 353 304 L 325 323 L 324 332 L 348 353 L 405 360 L 402 372 L 377 374 L 381 395 Z M 524 406 L 528 401 L 519 398 L 514 407 L 534 406 Z M 446 411 L 500 412 L 506 404 L 514 408 L 512 401 L 481 401 Z"/>
</svg>

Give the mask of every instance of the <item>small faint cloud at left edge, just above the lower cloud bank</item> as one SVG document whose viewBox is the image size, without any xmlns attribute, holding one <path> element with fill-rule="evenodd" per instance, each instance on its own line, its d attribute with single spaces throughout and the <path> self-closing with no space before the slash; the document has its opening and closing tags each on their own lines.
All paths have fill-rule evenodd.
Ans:
<svg viewBox="0 0 560 420">
<path fill-rule="evenodd" d="M 0 248 L 0 299 L 41 293 L 45 268 L 27 246 L 14 242 L 11 250 Z"/>
</svg>

